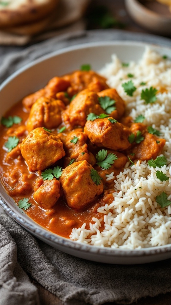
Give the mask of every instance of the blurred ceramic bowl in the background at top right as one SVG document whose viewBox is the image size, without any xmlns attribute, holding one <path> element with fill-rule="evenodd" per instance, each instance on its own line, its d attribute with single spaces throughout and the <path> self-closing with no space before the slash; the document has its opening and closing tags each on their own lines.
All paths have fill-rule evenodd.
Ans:
<svg viewBox="0 0 171 305">
<path fill-rule="evenodd" d="M 142 2 L 142 1 L 141 1 Z M 153 5 L 157 5 L 159 7 L 159 12 L 155 12 L 151 9 L 148 9 L 145 5 L 143 5 L 138 0 L 125 0 L 126 9 L 131 16 L 131 18 L 146 29 L 152 31 L 156 34 L 162 35 L 170 35 L 171 34 L 171 13 L 169 17 L 169 9 L 166 6 L 166 10 L 168 9 L 168 14 L 165 15 L 160 12 L 161 8 L 165 10 L 165 6 L 160 3 L 155 3 Z M 147 1 L 146 1 L 147 2 Z"/>
</svg>

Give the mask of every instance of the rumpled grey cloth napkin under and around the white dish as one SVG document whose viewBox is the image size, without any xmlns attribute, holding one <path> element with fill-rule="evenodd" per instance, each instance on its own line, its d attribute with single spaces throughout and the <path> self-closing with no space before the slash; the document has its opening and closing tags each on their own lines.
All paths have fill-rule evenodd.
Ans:
<svg viewBox="0 0 171 305">
<path fill-rule="evenodd" d="M 171 40 L 122 30 L 92 30 L 32 45 L 0 48 L 0 82 L 51 51 L 91 41 L 134 40 L 171 47 Z M 0 200 L 1 202 L 1 200 Z M 171 291 L 171 259 L 139 265 L 102 264 L 63 253 L 36 239 L 0 212 L 0 305 L 38 305 L 30 274 L 64 305 L 130 304 Z"/>
</svg>

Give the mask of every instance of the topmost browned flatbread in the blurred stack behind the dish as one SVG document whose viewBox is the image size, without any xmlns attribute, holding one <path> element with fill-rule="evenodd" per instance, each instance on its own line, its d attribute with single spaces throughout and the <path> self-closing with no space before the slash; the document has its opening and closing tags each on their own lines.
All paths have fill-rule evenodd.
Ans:
<svg viewBox="0 0 171 305">
<path fill-rule="evenodd" d="M 0 28 L 38 21 L 57 5 L 58 0 L 0 0 Z"/>
</svg>

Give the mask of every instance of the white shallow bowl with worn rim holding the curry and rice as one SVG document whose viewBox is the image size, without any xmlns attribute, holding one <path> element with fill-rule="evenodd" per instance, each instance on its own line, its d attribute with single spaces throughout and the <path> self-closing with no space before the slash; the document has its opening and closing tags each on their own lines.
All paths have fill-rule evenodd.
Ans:
<svg viewBox="0 0 171 305">
<path fill-rule="evenodd" d="M 44 56 L 14 73 L 0 86 L 0 117 L 14 103 L 45 86 L 54 76 L 77 70 L 83 63 L 89 63 L 93 70 L 99 70 L 105 63 L 110 62 L 113 53 L 116 53 L 123 62 L 137 61 L 141 58 L 146 45 L 131 41 L 105 41 L 72 46 Z M 151 47 L 160 54 L 171 58 L 170 48 L 156 45 L 151 45 Z M 171 257 L 171 245 L 121 250 L 90 246 L 65 239 L 47 231 L 30 219 L 14 203 L 2 185 L 0 185 L 0 195 L 0 204 L 9 216 L 37 238 L 68 254 L 111 264 L 141 264 Z"/>
</svg>

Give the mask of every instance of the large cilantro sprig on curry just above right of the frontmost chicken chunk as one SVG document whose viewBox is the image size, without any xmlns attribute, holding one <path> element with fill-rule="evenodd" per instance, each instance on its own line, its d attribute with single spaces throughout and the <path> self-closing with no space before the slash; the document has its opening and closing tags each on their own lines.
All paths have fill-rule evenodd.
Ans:
<svg viewBox="0 0 171 305">
<path fill-rule="evenodd" d="M 99 152 L 96 154 L 96 160 L 97 160 L 96 164 L 105 170 L 111 167 L 111 165 L 114 163 L 114 160 L 117 159 L 118 159 L 117 155 L 114 155 L 113 152 L 110 152 L 107 155 L 106 149 L 99 150 Z"/>
</svg>

